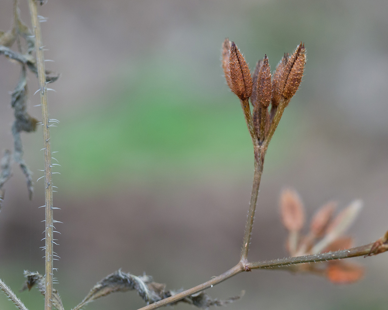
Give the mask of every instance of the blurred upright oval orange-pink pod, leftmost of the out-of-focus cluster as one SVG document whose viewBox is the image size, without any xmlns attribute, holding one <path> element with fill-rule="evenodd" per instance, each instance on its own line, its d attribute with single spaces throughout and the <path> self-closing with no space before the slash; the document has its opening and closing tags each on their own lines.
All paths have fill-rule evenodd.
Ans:
<svg viewBox="0 0 388 310">
<path fill-rule="evenodd" d="M 305 222 L 305 211 L 296 191 L 292 189 L 282 191 L 280 209 L 283 225 L 289 231 L 300 231 Z"/>
</svg>

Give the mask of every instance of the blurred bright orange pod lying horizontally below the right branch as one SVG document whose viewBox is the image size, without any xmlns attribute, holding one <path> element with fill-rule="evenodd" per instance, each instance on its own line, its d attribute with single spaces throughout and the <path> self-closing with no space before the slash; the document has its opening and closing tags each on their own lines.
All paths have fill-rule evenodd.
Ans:
<svg viewBox="0 0 388 310">
<path fill-rule="evenodd" d="M 364 276 L 364 268 L 357 264 L 337 262 L 329 264 L 327 278 L 336 284 L 348 284 L 359 281 Z"/>
</svg>

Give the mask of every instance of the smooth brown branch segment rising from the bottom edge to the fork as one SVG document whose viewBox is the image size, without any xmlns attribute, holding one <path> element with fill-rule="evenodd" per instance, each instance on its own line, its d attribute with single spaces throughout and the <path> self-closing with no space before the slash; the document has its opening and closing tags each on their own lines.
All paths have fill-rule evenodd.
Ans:
<svg viewBox="0 0 388 310">
<path fill-rule="evenodd" d="M 157 309 L 157 308 L 166 306 L 170 303 L 175 303 L 178 300 L 181 300 L 187 296 L 191 296 L 192 294 L 195 294 L 195 293 L 204 291 L 205 289 L 211 288 L 214 285 L 216 285 L 222 281 L 225 281 L 226 279 L 229 279 L 230 277 L 233 277 L 242 271 L 244 271 L 244 267 L 240 263 L 238 263 L 233 268 L 229 269 L 228 271 L 224 272 L 223 274 L 221 274 L 218 277 L 214 277 L 210 281 L 199 284 L 199 285 L 195 286 L 194 288 L 187 289 L 186 291 L 183 291 L 182 293 L 178 293 L 174 296 L 162 299 L 161 301 L 158 301 L 156 303 L 151 303 L 151 305 L 142 307 L 139 310 L 153 310 L 153 309 Z"/>
</svg>

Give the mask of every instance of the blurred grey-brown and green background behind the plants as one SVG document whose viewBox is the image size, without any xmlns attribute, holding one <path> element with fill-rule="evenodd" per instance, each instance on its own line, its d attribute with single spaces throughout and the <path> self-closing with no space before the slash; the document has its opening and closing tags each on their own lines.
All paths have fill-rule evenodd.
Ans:
<svg viewBox="0 0 388 310">
<path fill-rule="evenodd" d="M 28 5 L 20 1 L 29 23 Z M 0 2 L 9 29 L 12 1 Z M 47 69 L 61 73 L 49 93 L 54 219 L 61 232 L 55 286 L 66 309 L 122 268 L 167 288 L 191 288 L 234 266 L 253 178 L 253 152 L 241 106 L 225 83 L 220 49 L 235 41 L 253 69 L 272 70 L 303 41 L 300 90 L 268 148 L 250 260 L 287 256 L 279 219 L 282 188 L 303 199 L 307 217 L 329 200 L 364 208 L 349 233 L 362 245 L 384 234 L 388 216 L 388 2 L 383 0 L 52 1 L 40 8 Z M 10 95 L 19 66 L 0 57 L 0 151 L 13 148 Z M 29 112 L 41 119 L 36 78 Z M 24 158 L 42 176 L 42 129 L 23 134 Z M 43 182 L 28 200 L 15 164 L 0 213 L 0 277 L 18 291 L 23 269 L 44 273 Z M 263 270 L 239 274 L 207 292 L 245 290 L 232 309 L 385 309 L 387 256 L 355 258 L 362 281 Z M 43 296 L 19 293 L 36 309 Z M 136 309 L 135 292 L 87 309 Z M 175 309 L 192 306 L 176 305 Z M 14 309 L 0 294 L 0 308 Z"/>
</svg>

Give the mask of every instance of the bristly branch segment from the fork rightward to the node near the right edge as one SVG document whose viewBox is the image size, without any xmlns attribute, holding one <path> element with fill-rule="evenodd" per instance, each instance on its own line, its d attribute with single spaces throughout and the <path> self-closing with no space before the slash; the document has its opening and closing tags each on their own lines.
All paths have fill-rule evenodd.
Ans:
<svg viewBox="0 0 388 310">
<path fill-rule="evenodd" d="M 342 250 L 342 251 L 335 251 L 335 252 L 328 252 L 328 253 L 314 254 L 314 255 L 305 255 L 305 256 L 298 256 L 298 257 L 289 257 L 289 258 L 283 258 L 283 259 L 274 259 L 274 260 L 267 260 L 264 262 L 248 263 L 247 267 L 249 269 L 265 269 L 265 268 L 272 268 L 276 266 L 294 265 L 294 264 L 311 263 L 311 262 L 322 262 L 324 260 L 326 261 L 326 260 L 335 260 L 335 259 L 350 258 L 350 257 L 357 257 L 357 256 L 365 256 L 370 253 L 373 245 L 374 243 L 369 243 L 367 245 L 357 246 L 356 248 L 351 248 L 351 249 Z"/>
</svg>

